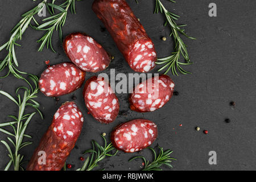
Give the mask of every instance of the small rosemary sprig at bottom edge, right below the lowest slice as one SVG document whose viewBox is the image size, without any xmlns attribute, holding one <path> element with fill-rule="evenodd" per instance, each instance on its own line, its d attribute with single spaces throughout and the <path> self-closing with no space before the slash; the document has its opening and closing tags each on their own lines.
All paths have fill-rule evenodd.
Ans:
<svg viewBox="0 0 256 182">
<path fill-rule="evenodd" d="M 150 149 L 154 154 L 154 160 L 151 163 L 148 160 L 146 160 L 146 158 L 144 158 L 143 156 L 135 156 L 134 158 L 131 158 L 129 160 L 129 162 L 131 160 L 134 160 L 134 159 L 137 159 L 137 158 L 143 159 L 145 166 L 142 169 L 142 171 L 162 171 L 163 169 L 160 168 L 160 167 L 163 164 L 172 168 L 172 165 L 170 164 L 172 162 L 171 160 L 176 160 L 176 159 L 170 157 L 170 155 L 172 154 L 171 150 L 163 151 L 163 148 L 159 147 L 160 148 L 160 153 L 156 157 L 155 150 L 151 147 L 147 147 L 147 148 Z"/>
</svg>

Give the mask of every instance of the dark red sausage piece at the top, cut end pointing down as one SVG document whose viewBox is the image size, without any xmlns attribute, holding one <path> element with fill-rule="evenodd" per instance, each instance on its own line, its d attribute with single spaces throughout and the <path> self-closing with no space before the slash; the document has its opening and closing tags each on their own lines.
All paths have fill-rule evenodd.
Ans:
<svg viewBox="0 0 256 182">
<path fill-rule="evenodd" d="M 135 72 L 148 72 L 155 67 L 154 43 L 125 0 L 95 0 L 92 9 Z"/>
</svg>

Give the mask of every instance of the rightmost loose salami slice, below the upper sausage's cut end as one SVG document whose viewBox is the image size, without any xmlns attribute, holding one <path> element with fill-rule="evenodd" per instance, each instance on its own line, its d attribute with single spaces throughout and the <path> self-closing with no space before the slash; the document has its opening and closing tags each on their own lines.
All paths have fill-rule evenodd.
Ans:
<svg viewBox="0 0 256 182">
<path fill-rule="evenodd" d="M 174 86 L 174 82 L 167 75 L 148 78 L 135 86 L 133 93 L 130 94 L 131 110 L 148 112 L 159 109 L 172 97 Z"/>
</svg>

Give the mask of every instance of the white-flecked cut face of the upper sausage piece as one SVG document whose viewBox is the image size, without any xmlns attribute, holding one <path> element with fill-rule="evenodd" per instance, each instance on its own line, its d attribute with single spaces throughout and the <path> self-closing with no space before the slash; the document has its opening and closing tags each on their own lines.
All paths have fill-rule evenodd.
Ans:
<svg viewBox="0 0 256 182">
<path fill-rule="evenodd" d="M 129 65 L 135 72 L 149 72 L 155 68 L 156 52 L 154 43 L 149 40 L 138 40 L 129 53 Z"/>
</svg>

